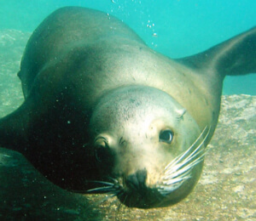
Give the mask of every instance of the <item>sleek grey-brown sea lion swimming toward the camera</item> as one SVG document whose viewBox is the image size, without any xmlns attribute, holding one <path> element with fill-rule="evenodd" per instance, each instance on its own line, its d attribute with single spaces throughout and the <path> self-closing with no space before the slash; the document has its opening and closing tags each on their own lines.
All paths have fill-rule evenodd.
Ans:
<svg viewBox="0 0 256 221">
<path fill-rule="evenodd" d="M 170 206 L 200 178 L 225 75 L 256 72 L 255 55 L 256 28 L 169 59 L 109 14 L 60 8 L 26 44 L 25 101 L 0 120 L 0 144 L 67 190 Z"/>
</svg>

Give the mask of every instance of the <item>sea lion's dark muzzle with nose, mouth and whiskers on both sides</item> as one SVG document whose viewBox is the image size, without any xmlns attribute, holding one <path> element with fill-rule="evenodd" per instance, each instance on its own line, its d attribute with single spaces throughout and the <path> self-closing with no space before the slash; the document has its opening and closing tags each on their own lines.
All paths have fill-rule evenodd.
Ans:
<svg viewBox="0 0 256 221">
<path fill-rule="evenodd" d="M 152 208 L 167 207 L 181 201 L 195 186 L 193 169 L 199 165 L 206 154 L 204 144 L 211 127 L 205 127 L 195 142 L 182 154 L 174 158 L 164 168 L 163 176 L 152 186 L 147 186 L 147 169 L 122 178 L 111 178 L 111 182 L 100 181 L 102 187 L 89 190 L 117 196 L 127 207 Z"/>
</svg>

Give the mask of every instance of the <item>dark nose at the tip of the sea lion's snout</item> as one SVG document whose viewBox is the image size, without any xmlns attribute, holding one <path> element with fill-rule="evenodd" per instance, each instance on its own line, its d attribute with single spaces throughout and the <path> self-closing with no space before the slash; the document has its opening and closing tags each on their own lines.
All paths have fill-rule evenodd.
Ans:
<svg viewBox="0 0 256 221">
<path fill-rule="evenodd" d="M 125 183 L 133 190 L 143 190 L 146 187 L 147 170 L 137 170 L 136 173 L 129 175 Z"/>
</svg>

